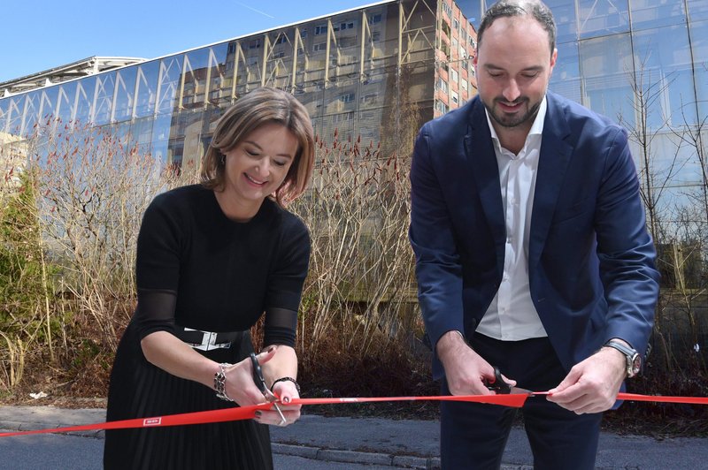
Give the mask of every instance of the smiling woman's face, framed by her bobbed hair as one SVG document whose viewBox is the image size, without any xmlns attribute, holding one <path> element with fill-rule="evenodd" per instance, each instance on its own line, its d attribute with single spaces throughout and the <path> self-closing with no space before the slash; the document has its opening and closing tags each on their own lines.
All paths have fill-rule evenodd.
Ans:
<svg viewBox="0 0 708 470">
<path fill-rule="evenodd" d="M 255 207 L 257 212 L 263 200 L 288 176 L 297 148 L 295 135 L 284 125 L 259 126 L 224 154 L 224 195 L 231 203 Z"/>
</svg>

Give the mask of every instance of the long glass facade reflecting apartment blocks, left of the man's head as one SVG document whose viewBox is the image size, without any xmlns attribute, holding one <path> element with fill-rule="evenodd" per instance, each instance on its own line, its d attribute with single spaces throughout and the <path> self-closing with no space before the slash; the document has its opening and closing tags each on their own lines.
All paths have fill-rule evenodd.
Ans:
<svg viewBox="0 0 708 470">
<path fill-rule="evenodd" d="M 336 132 L 339 140 L 361 137 L 402 150 L 412 145 L 403 141 L 402 135 L 411 135 L 403 126 L 419 126 L 475 94 L 468 60 L 475 37 L 451 0 L 380 2 L 80 79 L 6 91 L 0 135 L 27 139 L 36 125 L 57 117 L 54 125 L 107 127 L 180 167 L 198 163 L 223 110 L 251 89 L 269 86 L 304 103 L 321 139 L 332 140 Z"/>
</svg>

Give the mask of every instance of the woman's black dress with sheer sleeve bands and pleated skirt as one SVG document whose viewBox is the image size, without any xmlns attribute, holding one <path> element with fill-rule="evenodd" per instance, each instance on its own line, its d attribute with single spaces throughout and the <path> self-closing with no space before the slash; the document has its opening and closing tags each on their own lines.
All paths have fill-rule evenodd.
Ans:
<svg viewBox="0 0 708 470">
<path fill-rule="evenodd" d="M 266 312 L 264 343 L 294 345 L 309 256 L 304 224 L 273 201 L 235 223 L 202 186 L 155 198 L 138 236 L 138 305 L 113 364 L 107 420 L 235 406 L 150 364 L 140 341 L 165 330 L 203 343 L 196 351 L 212 360 L 235 363 L 253 351 L 248 330 Z M 202 331 L 228 333 L 210 341 Z M 267 426 L 247 420 L 108 430 L 104 467 L 260 470 L 273 460 Z"/>
</svg>

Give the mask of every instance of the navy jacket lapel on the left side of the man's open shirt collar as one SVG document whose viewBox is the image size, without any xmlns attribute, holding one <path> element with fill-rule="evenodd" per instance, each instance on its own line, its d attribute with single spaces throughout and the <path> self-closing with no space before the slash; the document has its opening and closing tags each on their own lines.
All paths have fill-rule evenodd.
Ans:
<svg viewBox="0 0 708 470">
<path fill-rule="evenodd" d="M 499 167 L 492 144 L 484 105 L 479 97 L 475 99 L 470 111 L 470 125 L 465 136 L 465 151 L 470 172 L 474 175 L 479 190 L 482 210 L 487 218 L 489 230 L 495 240 L 497 266 L 504 269 L 504 205 L 502 187 L 499 183 Z M 479 230 L 479 227 L 474 227 Z"/>
</svg>

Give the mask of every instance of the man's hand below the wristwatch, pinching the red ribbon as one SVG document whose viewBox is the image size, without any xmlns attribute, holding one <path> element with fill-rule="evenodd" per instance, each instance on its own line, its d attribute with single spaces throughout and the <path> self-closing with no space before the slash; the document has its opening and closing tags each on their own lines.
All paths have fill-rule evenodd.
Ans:
<svg viewBox="0 0 708 470">
<path fill-rule="evenodd" d="M 627 375 L 625 356 L 612 347 L 603 347 L 573 367 L 549 390 L 548 399 L 577 414 L 601 413 L 612 408 Z"/>
</svg>

